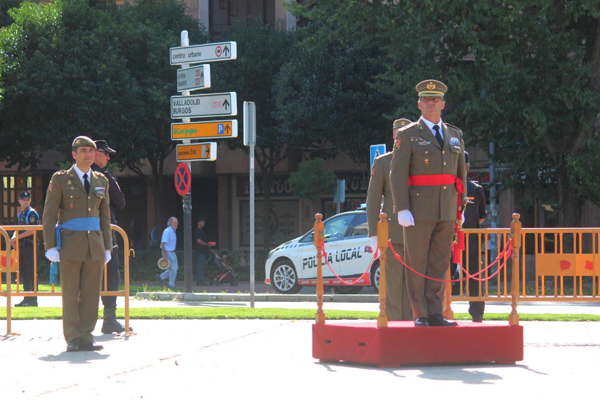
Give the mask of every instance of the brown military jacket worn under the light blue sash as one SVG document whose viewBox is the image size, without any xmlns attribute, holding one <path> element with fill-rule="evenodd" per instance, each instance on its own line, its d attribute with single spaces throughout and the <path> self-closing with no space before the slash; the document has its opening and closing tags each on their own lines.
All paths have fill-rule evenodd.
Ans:
<svg viewBox="0 0 600 400">
<path fill-rule="evenodd" d="M 75 218 L 100 217 L 100 230 L 61 229 L 61 260 L 86 261 L 88 249 L 94 261 L 104 260 L 104 251 L 112 251 L 110 234 L 109 181 L 90 169 L 89 195 L 74 169 L 55 172 L 44 204 L 44 247 L 56 247 L 55 225 Z"/>
</svg>

